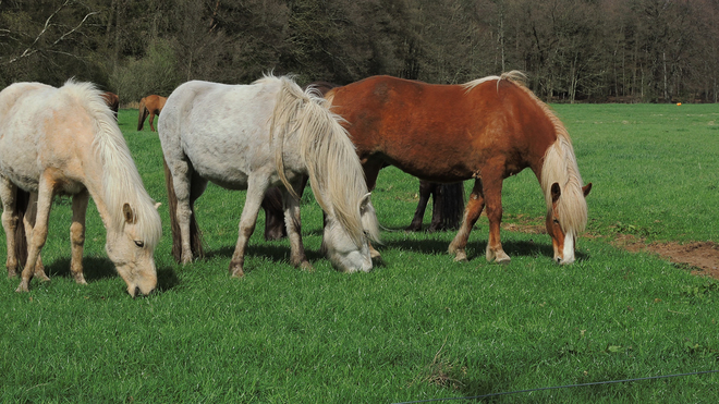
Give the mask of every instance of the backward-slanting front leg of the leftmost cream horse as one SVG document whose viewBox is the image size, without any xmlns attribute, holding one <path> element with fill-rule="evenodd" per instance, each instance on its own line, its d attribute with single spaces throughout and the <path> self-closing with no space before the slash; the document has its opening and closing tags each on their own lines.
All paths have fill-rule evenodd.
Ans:
<svg viewBox="0 0 719 404">
<path fill-rule="evenodd" d="M 27 237 L 27 264 L 23 268 L 22 279 L 15 292 L 28 292 L 29 282 L 35 274 L 35 264 L 37 262 L 40 250 L 48 237 L 48 220 L 50 218 L 50 208 L 52 207 L 53 188 L 51 181 L 46 180 L 45 175 L 40 177 L 37 193 L 37 217 L 33 227 L 32 236 Z M 31 198 L 32 205 L 32 198 Z M 42 272 L 45 273 L 45 272 Z"/>
</svg>

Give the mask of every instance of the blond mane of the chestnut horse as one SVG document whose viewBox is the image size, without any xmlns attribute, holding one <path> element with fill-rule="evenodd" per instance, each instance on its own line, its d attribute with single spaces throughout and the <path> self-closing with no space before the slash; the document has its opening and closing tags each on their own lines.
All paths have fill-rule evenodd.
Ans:
<svg viewBox="0 0 719 404">
<path fill-rule="evenodd" d="M 577 235 L 582 233 L 587 224 L 587 203 L 582 191 L 582 176 L 580 168 L 574 156 L 572 140 L 564 124 L 557 118 L 555 112 L 532 93 L 525 85 L 526 75 L 520 71 L 503 73 L 501 76 L 488 76 L 464 84 L 467 91 L 477 85 L 488 82 L 502 79 L 514 83 L 522 88 L 547 115 L 555 126 L 557 140 L 547 148 L 541 167 L 540 185 L 545 194 L 547 210 L 552 209 L 551 185 L 559 183 L 562 196 L 559 198 L 557 215 L 562 218 L 561 227 L 565 233 L 573 232 Z"/>
</svg>

